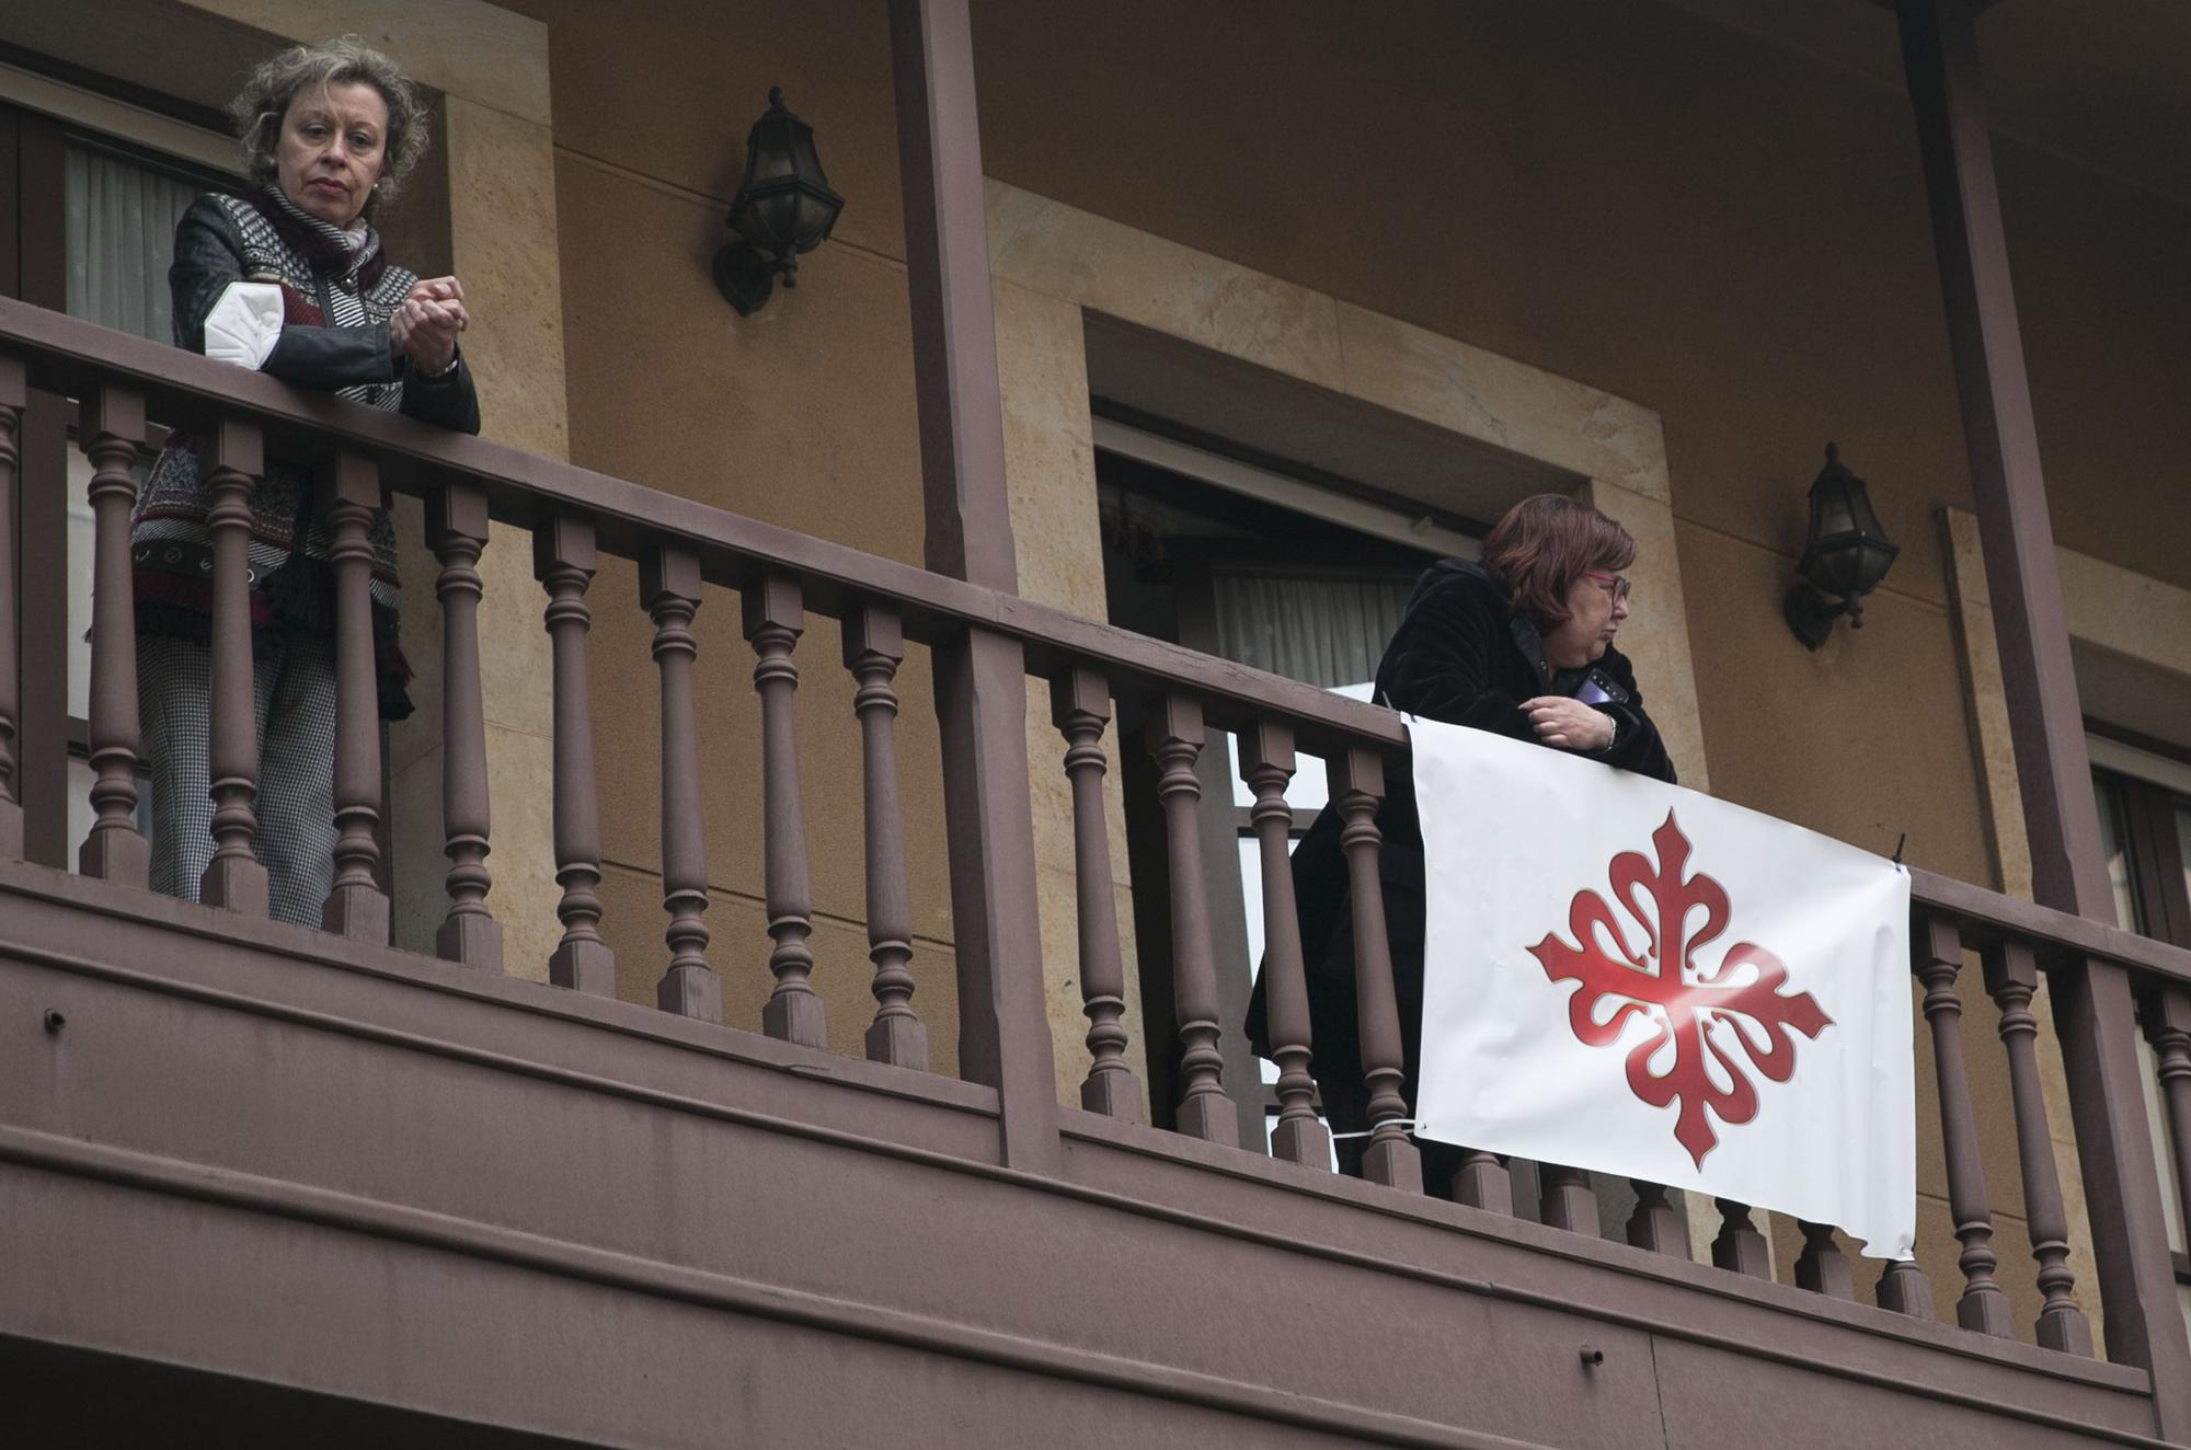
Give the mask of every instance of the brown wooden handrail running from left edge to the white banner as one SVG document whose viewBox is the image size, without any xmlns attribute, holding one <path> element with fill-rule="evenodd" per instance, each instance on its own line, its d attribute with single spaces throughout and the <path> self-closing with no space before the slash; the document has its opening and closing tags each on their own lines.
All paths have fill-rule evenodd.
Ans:
<svg viewBox="0 0 2191 1450">
<path fill-rule="evenodd" d="M 1188 692 L 1212 707 L 1209 723 L 1218 727 L 1280 714 L 1295 725 L 1299 745 L 1310 753 L 1347 745 L 1372 745 L 1385 753 L 1407 747 L 1407 734 L 1389 710 L 1282 675 L 578 464 L 291 388 L 28 302 L 0 298 L 0 350 L 22 357 L 33 385 L 48 392 L 81 396 L 101 385 L 125 385 L 145 396 L 149 414 L 180 427 L 243 416 L 265 429 L 267 453 L 302 460 L 324 460 L 342 447 L 370 453 L 381 462 L 381 480 L 399 493 L 425 495 L 438 482 L 475 482 L 500 523 L 532 530 L 559 510 L 592 515 L 598 545 L 622 559 L 638 559 L 649 545 L 675 539 L 695 548 L 712 585 L 736 589 L 762 574 L 795 574 L 804 602 L 830 618 L 844 618 L 861 602 L 887 600 L 903 611 L 905 635 L 922 644 L 968 626 L 993 629 L 1019 640 L 1030 670 L 1043 677 L 1093 661 L 1111 675 L 1115 694 Z"/>
</svg>

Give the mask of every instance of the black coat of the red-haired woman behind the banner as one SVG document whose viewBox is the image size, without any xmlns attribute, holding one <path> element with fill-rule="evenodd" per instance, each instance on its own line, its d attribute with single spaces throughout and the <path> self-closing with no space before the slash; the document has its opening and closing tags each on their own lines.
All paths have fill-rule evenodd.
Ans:
<svg viewBox="0 0 2191 1450">
<path fill-rule="evenodd" d="M 1597 760 L 1674 780 L 1674 762 L 1659 740 L 1659 727 L 1643 712 L 1634 670 L 1617 648 L 1597 661 L 1628 703 L 1595 705 L 1615 716 L 1615 745 Z M 1547 670 L 1536 631 L 1516 620 L 1505 591 L 1477 563 L 1444 559 L 1431 565 L 1407 605 L 1407 618 L 1376 668 L 1376 701 L 1429 721 L 1490 729 L 1536 745 L 1521 701 L 1538 694 L 1573 694 L 1582 672 Z M 1556 747 L 1545 747 L 1556 749 Z M 1376 815 L 1385 845 L 1378 874 L 1385 883 L 1385 927 L 1391 937 L 1393 990 L 1400 999 L 1400 1029 L 1413 1045 L 1422 1036 L 1422 819 L 1415 813 L 1415 782 L 1407 771 L 1385 778 L 1385 802 Z M 1293 852 L 1293 894 L 1301 924 L 1301 962 L 1315 1032 L 1317 1075 L 1358 1071 L 1354 1021 L 1354 957 L 1350 929 L 1347 867 L 1339 848 L 1343 821 L 1326 806 Z M 1496 828 L 1496 824 L 1488 824 Z M 1334 948 L 1334 937 L 1337 946 Z M 1249 1043 L 1269 1056 L 1262 979 L 1249 1003 Z M 1413 1080 L 1413 1071 L 1409 1071 Z"/>
</svg>

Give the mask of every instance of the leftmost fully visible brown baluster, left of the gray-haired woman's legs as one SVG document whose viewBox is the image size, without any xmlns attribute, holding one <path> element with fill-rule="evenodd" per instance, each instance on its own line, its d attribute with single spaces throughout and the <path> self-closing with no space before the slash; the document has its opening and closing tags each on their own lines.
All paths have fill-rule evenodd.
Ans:
<svg viewBox="0 0 2191 1450">
<path fill-rule="evenodd" d="M 125 388 L 99 388 L 83 399 L 77 423 L 92 460 L 92 835 L 77 852 L 85 876 L 142 887 L 151 845 L 136 828 L 138 699 L 136 585 L 129 578 L 129 475 L 145 442 L 145 399 Z"/>
</svg>

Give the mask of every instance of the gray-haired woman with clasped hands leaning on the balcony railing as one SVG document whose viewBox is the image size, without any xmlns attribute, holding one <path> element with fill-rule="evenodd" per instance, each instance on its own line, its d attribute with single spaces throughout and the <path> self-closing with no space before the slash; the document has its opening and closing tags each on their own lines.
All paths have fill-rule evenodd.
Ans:
<svg viewBox="0 0 2191 1450">
<path fill-rule="evenodd" d="M 372 215 L 425 151 L 418 92 L 355 35 L 261 66 L 230 107 L 250 195 L 204 195 L 175 226 L 175 344 L 302 388 L 480 431 L 469 324 L 454 276 L 418 280 L 381 256 Z M 333 885 L 335 668 L 329 523 L 307 469 L 267 460 L 252 493 L 252 644 L 259 835 L 276 918 L 318 924 Z M 206 771 L 213 563 L 208 497 L 175 434 L 138 497 L 138 705 L 153 775 L 151 885 L 197 898 L 213 859 Z M 381 714 L 403 718 L 397 552 L 372 517 Z"/>
</svg>

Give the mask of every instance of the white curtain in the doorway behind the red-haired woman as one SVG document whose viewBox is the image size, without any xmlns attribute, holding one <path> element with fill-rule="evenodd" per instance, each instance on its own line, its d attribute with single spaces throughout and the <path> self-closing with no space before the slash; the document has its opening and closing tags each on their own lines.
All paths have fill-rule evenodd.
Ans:
<svg viewBox="0 0 2191 1450">
<path fill-rule="evenodd" d="M 1218 655 L 1301 683 L 1352 686 L 1376 675 L 1400 629 L 1411 578 L 1218 569 Z"/>
</svg>

